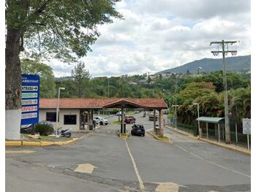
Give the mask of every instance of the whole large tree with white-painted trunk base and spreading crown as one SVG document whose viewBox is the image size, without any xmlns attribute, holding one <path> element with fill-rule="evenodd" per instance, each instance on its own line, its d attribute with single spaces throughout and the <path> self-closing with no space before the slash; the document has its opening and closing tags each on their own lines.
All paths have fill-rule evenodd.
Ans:
<svg viewBox="0 0 256 192">
<path fill-rule="evenodd" d="M 99 37 L 97 26 L 113 22 L 113 17 L 121 18 L 115 9 L 117 1 L 6 0 L 5 109 L 10 116 L 7 120 L 16 122 L 20 118 L 20 53 L 26 49 L 27 55 L 62 61 L 86 55 Z M 7 125 L 18 124 L 17 121 Z"/>
</svg>

